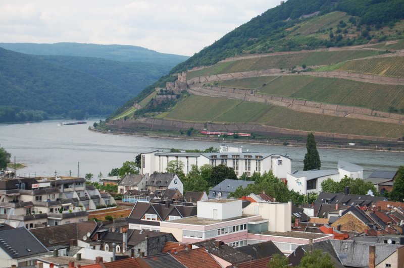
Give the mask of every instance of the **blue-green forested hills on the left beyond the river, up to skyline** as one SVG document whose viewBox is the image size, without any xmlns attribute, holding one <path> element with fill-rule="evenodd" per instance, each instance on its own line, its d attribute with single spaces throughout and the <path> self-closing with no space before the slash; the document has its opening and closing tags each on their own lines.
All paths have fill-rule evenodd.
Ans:
<svg viewBox="0 0 404 268">
<path fill-rule="evenodd" d="M 73 56 L 58 56 L 63 53 Z M 3 43 L 0 57 L 0 122 L 111 114 L 187 58 L 136 46 L 77 43 Z"/>
</svg>

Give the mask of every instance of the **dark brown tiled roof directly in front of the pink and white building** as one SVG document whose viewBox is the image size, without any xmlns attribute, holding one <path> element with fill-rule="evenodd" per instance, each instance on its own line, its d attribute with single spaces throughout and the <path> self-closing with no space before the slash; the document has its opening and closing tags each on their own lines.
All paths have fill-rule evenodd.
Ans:
<svg viewBox="0 0 404 268">
<path fill-rule="evenodd" d="M 197 247 L 204 247 L 210 254 L 218 256 L 231 264 L 237 264 L 250 260 L 248 254 L 240 251 L 238 248 L 232 248 L 221 241 L 220 248 L 215 246 L 215 239 L 205 240 L 198 243 L 193 243 Z"/>
</svg>

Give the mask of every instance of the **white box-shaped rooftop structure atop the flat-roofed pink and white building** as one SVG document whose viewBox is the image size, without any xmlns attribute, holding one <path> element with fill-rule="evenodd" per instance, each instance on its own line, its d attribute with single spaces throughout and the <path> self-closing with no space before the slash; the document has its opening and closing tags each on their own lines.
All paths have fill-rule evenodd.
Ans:
<svg viewBox="0 0 404 268">
<path fill-rule="evenodd" d="M 211 199 L 218 200 L 218 199 Z M 222 199 L 223 200 L 223 199 Z M 225 199 L 226 201 L 228 199 Z M 197 202 L 197 217 L 204 219 L 213 219 L 213 210 L 217 211 L 217 220 L 226 220 L 242 215 L 242 201 L 231 200 L 229 202 L 212 202 L 198 201 Z"/>
</svg>

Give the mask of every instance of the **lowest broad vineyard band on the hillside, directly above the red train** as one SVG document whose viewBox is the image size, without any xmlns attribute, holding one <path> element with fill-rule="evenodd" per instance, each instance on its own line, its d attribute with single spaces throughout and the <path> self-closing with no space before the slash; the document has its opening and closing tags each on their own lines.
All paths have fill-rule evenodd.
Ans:
<svg viewBox="0 0 404 268">
<path fill-rule="evenodd" d="M 213 110 L 214 109 L 214 110 Z M 193 111 L 190 113 L 189 111 Z M 165 119 L 187 122 L 257 123 L 280 128 L 396 138 L 403 125 L 299 113 L 265 103 L 190 95 Z"/>
</svg>

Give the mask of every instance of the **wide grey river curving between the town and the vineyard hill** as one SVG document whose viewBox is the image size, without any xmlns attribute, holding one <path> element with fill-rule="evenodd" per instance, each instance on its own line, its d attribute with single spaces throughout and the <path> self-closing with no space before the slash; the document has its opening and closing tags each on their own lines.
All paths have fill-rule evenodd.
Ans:
<svg viewBox="0 0 404 268">
<path fill-rule="evenodd" d="M 87 124 L 58 126 L 60 121 L 0 125 L 0 147 L 12 154 L 12 162 L 24 163 L 26 168 L 17 171 L 19 176 L 77 176 L 92 173 L 94 178 L 104 176 L 125 161 L 134 161 L 141 152 L 153 150 L 218 148 L 219 142 L 147 138 L 108 135 L 88 131 L 98 120 Z M 74 121 L 69 121 L 74 122 Z M 287 154 L 292 158 L 292 171 L 302 170 L 305 147 L 232 144 L 254 152 Z M 396 171 L 404 165 L 404 154 L 390 151 L 365 151 L 321 149 L 321 169 L 336 169 L 338 160 L 345 160 L 364 168 L 364 178 L 372 171 Z M 79 165 L 78 165 L 79 163 Z M 79 170 L 78 170 L 79 166 Z"/>
</svg>

